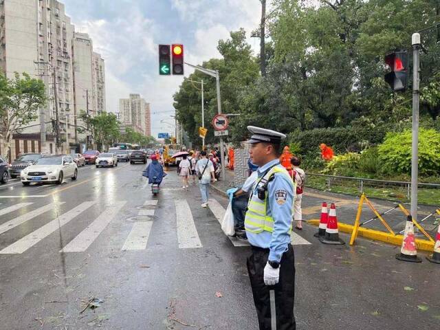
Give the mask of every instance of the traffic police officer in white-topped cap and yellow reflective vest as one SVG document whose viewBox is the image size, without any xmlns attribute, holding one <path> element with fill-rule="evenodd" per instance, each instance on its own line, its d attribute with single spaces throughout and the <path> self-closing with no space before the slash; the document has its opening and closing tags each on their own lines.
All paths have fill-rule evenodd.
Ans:
<svg viewBox="0 0 440 330">
<path fill-rule="evenodd" d="M 249 199 L 245 230 L 252 247 L 248 273 L 260 330 L 294 330 L 295 258 L 290 244 L 294 183 L 278 159 L 285 135 L 248 126 L 258 179 Z"/>
</svg>

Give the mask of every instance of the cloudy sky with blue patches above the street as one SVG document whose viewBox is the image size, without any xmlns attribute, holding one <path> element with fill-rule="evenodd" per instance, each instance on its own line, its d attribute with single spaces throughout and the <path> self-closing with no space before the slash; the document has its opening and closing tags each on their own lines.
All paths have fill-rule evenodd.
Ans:
<svg viewBox="0 0 440 330">
<path fill-rule="evenodd" d="M 259 25 L 259 0 L 61 0 L 76 25 L 88 33 L 105 61 L 107 111 L 119 99 L 141 94 L 151 104 L 151 129 L 173 132 L 173 94 L 183 78 L 159 76 L 157 45 L 182 43 L 185 61 L 201 64 L 213 57 L 219 39 L 245 28 L 248 37 Z M 258 50 L 259 39 L 249 42 Z M 257 54 L 258 52 L 256 52 Z M 185 76 L 192 73 L 187 66 Z"/>
</svg>

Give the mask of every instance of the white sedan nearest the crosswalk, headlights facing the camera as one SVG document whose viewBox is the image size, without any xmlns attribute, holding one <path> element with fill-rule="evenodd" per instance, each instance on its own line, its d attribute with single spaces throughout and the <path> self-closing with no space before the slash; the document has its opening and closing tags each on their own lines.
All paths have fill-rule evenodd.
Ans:
<svg viewBox="0 0 440 330">
<path fill-rule="evenodd" d="M 42 157 L 22 170 L 20 175 L 23 186 L 29 186 L 31 182 L 62 184 L 65 177 L 70 177 L 72 180 L 78 177 L 78 166 L 69 155 Z"/>
</svg>

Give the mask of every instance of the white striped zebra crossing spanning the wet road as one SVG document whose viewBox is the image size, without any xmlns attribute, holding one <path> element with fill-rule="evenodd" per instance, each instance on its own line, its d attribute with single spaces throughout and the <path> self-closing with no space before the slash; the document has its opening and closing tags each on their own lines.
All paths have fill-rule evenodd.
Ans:
<svg viewBox="0 0 440 330">
<path fill-rule="evenodd" d="M 23 254 L 24 252 L 33 248 L 36 244 L 40 243 L 44 239 L 67 225 L 72 220 L 76 219 L 85 211 L 94 209 L 97 206 L 97 201 L 85 201 L 78 206 L 67 210 L 63 214 L 58 214 L 60 206 L 63 206 L 65 202 L 58 201 L 48 203 L 45 206 L 32 209 L 31 202 L 29 203 L 17 203 L 14 206 L 8 206 L 0 208 L 0 216 L 5 214 L 12 214 L 13 212 L 21 212 L 17 217 L 14 217 L 4 223 L 0 221 L 0 242 L 1 236 L 16 228 L 20 225 L 26 226 L 32 219 L 41 215 L 50 217 L 50 214 L 54 217 L 51 221 L 42 225 L 40 228 L 26 234 L 23 237 L 17 239 L 8 246 L 5 246 L 0 250 L 0 254 Z M 74 253 L 74 252 L 86 252 L 91 245 L 98 239 L 98 237 L 104 232 L 105 228 L 114 221 L 115 217 L 119 214 L 121 218 L 122 210 L 126 206 L 127 201 L 117 201 L 107 206 L 96 219 L 84 228 L 79 234 L 74 236 L 71 241 L 65 242 L 65 246 L 59 252 Z M 137 221 L 130 223 L 129 233 L 126 234 L 124 243 L 120 246 L 120 250 L 124 252 L 129 251 L 142 251 L 148 250 L 148 238 L 151 236 L 152 230 L 155 228 L 155 211 L 157 210 L 157 200 L 146 200 L 142 207 L 139 207 Z M 197 232 L 196 221 L 193 217 L 192 211 L 186 199 L 175 199 L 169 207 L 175 208 L 175 223 L 176 223 L 176 238 L 179 249 L 198 249 L 203 248 L 203 244 Z M 216 199 L 210 199 L 208 203 L 210 212 L 221 223 L 225 214 L 225 208 L 221 206 Z M 23 212 L 25 211 L 25 212 Z M 1 219 L 1 218 L 0 218 Z M 124 234 L 124 233 L 122 233 Z M 222 232 L 223 234 L 223 232 Z M 247 241 L 236 239 L 235 237 L 228 236 L 228 239 L 234 247 L 249 246 Z M 294 245 L 307 245 L 311 244 L 303 237 L 292 232 L 292 244 Z M 58 248 L 59 249 L 59 248 Z M 119 248 L 118 248 L 119 249 Z"/>
</svg>

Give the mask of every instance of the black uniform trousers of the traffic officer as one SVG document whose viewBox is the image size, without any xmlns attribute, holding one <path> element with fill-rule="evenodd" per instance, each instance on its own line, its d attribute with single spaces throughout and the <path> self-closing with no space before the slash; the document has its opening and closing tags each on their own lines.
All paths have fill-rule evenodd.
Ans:
<svg viewBox="0 0 440 330">
<path fill-rule="evenodd" d="M 264 267 L 269 257 L 269 249 L 252 246 L 248 257 L 248 273 L 260 330 L 295 330 L 295 255 L 292 245 L 288 245 L 280 262 L 279 282 L 273 286 L 264 283 Z M 274 290 L 276 309 L 276 329 L 272 329 L 270 291 Z"/>
</svg>

